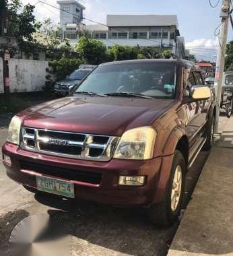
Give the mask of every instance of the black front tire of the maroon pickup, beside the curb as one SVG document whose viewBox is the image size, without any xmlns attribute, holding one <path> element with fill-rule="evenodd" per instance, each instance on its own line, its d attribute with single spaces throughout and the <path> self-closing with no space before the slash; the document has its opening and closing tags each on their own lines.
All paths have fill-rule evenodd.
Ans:
<svg viewBox="0 0 233 256">
<path fill-rule="evenodd" d="M 178 202 L 174 205 L 174 200 L 172 200 L 172 193 L 174 193 L 173 182 L 176 179 L 175 174 L 177 170 L 180 171 L 181 184 L 178 190 L 180 194 L 178 197 Z M 172 161 L 172 169 L 170 172 L 170 179 L 166 188 L 164 195 L 164 200 L 160 204 L 151 205 L 148 209 L 149 220 L 156 224 L 156 226 L 170 226 L 173 224 L 180 215 L 180 210 L 182 206 L 182 199 L 185 192 L 185 174 L 186 174 L 186 163 L 185 158 L 182 154 L 176 150 L 174 153 L 174 158 Z M 172 189 L 173 187 L 173 189 Z M 177 187 L 177 188 L 178 188 Z M 174 197 L 173 197 L 174 198 Z"/>
</svg>

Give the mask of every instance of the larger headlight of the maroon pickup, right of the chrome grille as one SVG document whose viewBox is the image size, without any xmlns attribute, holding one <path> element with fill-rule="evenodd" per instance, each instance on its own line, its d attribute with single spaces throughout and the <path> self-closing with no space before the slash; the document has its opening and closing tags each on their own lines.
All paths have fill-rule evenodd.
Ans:
<svg viewBox="0 0 233 256">
<path fill-rule="evenodd" d="M 156 131 L 152 127 L 139 127 L 126 131 L 113 158 L 147 160 L 153 157 Z"/>
</svg>

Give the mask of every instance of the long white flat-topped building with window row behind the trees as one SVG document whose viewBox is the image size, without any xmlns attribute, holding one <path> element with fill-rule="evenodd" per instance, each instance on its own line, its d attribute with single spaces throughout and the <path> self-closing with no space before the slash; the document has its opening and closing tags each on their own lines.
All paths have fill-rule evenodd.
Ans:
<svg viewBox="0 0 233 256">
<path fill-rule="evenodd" d="M 106 20 L 106 25 L 86 25 L 82 29 L 107 48 L 114 44 L 149 46 L 158 51 L 168 49 L 185 58 L 185 40 L 180 37 L 176 15 L 107 15 Z M 74 24 L 65 26 L 64 35 L 71 44 L 77 44 L 80 28 Z"/>
</svg>

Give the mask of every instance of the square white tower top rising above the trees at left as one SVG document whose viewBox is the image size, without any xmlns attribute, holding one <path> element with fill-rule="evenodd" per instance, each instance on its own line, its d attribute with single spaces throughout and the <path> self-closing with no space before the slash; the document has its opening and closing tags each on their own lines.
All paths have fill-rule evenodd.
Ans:
<svg viewBox="0 0 233 256">
<path fill-rule="evenodd" d="M 57 1 L 60 8 L 60 27 L 66 30 L 67 24 L 79 24 L 83 20 L 83 11 L 86 9 L 76 0 Z"/>
</svg>

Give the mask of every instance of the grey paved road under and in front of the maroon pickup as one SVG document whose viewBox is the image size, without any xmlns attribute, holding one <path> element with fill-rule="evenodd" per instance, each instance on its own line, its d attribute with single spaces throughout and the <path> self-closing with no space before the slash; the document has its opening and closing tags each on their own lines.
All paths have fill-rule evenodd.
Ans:
<svg viewBox="0 0 233 256">
<path fill-rule="evenodd" d="M 7 135 L 9 119 L 0 117 L 0 146 Z M 208 152 L 201 152 L 187 174 L 185 202 L 187 205 Z M 63 202 L 63 211 L 45 206 L 42 197 L 26 191 L 5 175 L 0 162 L 0 255 L 7 255 L 7 243 L 13 227 L 32 214 L 59 216 L 72 236 L 72 255 L 166 255 L 178 222 L 170 228 L 156 228 L 145 220 L 143 210 L 127 210 L 79 201 Z M 44 202 L 46 203 L 46 202 Z M 56 201 L 54 201 L 56 206 Z"/>
</svg>

